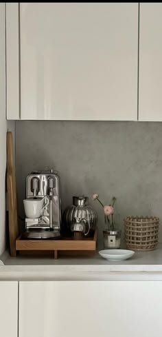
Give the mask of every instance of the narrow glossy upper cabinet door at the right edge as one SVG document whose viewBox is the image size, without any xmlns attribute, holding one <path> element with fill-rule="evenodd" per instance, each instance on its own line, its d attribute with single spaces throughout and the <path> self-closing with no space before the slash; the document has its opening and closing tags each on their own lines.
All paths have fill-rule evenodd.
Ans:
<svg viewBox="0 0 162 337">
<path fill-rule="evenodd" d="M 139 121 L 162 121 L 162 3 L 140 3 Z"/>
</svg>

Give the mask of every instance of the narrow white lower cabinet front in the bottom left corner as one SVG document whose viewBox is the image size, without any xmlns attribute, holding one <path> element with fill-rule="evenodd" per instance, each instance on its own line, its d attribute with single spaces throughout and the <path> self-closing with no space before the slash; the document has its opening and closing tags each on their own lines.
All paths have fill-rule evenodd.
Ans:
<svg viewBox="0 0 162 337">
<path fill-rule="evenodd" d="M 18 282 L 0 281 L 0 336 L 18 336 Z"/>
</svg>

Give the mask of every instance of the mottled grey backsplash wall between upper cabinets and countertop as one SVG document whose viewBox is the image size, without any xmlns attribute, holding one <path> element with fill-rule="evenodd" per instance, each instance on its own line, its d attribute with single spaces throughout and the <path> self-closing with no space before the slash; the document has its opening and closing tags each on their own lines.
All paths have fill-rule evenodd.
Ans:
<svg viewBox="0 0 162 337">
<path fill-rule="evenodd" d="M 53 167 L 60 174 L 62 209 L 72 196 L 117 197 L 121 222 L 128 215 L 155 215 L 162 223 L 162 123 L 17 121 L 16 183 L 23 215 L 25 177 Z M 104 227 L 102 208 L 91 201 Z M 160 234 L 162 242 L 162 230 Z"/>
</svg>

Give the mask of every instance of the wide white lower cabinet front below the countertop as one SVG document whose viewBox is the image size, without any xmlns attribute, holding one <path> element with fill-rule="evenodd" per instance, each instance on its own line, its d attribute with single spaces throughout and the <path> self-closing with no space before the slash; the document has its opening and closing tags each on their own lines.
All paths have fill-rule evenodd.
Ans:
<svg viewBox="0 0 162 337">
<path fill-rule="evenodd" d="M 20 282 L 19 300 L 19 337 L 161 337 L 159 281 Z"/>
</svg>

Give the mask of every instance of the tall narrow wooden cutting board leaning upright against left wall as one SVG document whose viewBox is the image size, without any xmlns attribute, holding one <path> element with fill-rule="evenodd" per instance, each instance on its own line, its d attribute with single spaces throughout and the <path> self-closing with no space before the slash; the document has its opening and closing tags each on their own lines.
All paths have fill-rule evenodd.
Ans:
<svg viewBox="0 0 162 337">
<path fill-rule="evenodd" d="M 14 167 L 12 132 L 7 132 L 7 190 L 10 254 L 11 256 L 16 256 L 16 238 L 19 235 L 19 227 L 17 216 L 16 176 Z"/>
</svg>

